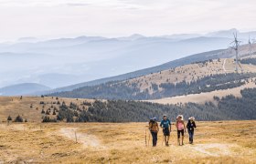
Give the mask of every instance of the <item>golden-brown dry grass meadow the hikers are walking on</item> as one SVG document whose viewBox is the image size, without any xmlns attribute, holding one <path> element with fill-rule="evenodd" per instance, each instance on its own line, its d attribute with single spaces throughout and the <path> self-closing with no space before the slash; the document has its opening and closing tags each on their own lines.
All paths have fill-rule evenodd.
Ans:
<svg viewBox="0 0 256 164">
<path fill-rule="evenodd" d="M 162 132 L 156 148 L 145 147 L 146 129 L 147 123 L 1 124 L 0 163 L 256 163 L 256 121 L 197 122 L 195 144 L 186 134 L 182 147 L 176 130 L 170 147 L 162 146 Z"/>
</svg>

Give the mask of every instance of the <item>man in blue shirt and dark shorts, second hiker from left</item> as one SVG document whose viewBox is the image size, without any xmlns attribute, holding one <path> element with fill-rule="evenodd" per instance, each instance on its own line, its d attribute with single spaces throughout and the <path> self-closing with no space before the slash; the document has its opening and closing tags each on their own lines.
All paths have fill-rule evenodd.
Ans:
<svg viewBox="0 0 256 164">
<path fill-rule="evenodd" d="M 169 138 L 170 138 L 170 132 L 171 132 L 171 121 L 167 118 L 166 115 L 163 116 L 163 119 L 161 121 L 160 127 L 163 128 L 163 133 L 165 136 L 165 146 L 169 146 Z"/>
</svg>

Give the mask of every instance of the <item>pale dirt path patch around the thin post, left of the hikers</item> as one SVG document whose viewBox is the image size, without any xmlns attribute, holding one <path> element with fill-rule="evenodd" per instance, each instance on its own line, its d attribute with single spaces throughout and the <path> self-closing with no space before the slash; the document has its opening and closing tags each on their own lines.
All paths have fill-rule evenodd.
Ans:
<svg viewBox="0 0 256 164">
<path fill-rule="evenodd" d="M 96 136 L 87 133 L 80 133 L 78 132 L 78 128 L 60 128 L 59 134 L 65 138 L 69 138 L 72 140 L 76 140 L 77 137 L 77 141 L 83 144 L 85 148 L 104 148 L 103 146 L 101 146 L 101 142 Z"/>
</svg>

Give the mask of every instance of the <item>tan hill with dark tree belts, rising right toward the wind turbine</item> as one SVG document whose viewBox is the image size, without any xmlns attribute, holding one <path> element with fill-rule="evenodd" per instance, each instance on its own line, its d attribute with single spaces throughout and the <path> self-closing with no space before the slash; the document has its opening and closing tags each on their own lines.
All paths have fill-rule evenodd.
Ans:
<svg viewBox="0 0 256 164">
<path fill-rule="evenodd" d="M 236 74 L 233 58 L 209 59 L 150 73 L 142 77 L 112 81 L 91 87 L 79 87 L 72 91 L 57 92 L 51 95 L 144 100 L 195 95 L 231 88 L 236 90 L 235 88 L 246 86 L 254 87 L 256 66 L 240 65 L 243 67 L 243 71 Z"/>
</svg>

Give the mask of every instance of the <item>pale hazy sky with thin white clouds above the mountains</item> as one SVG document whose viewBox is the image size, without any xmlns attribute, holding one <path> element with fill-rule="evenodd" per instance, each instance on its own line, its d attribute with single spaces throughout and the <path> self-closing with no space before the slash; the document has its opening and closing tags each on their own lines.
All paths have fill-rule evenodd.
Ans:
<svg viewBox="0 0 256 164">
<path fill-rule="evenodd" d="M 0 40 L 256 29 L 255 0 L 0 0 Z"/>
</svg>

